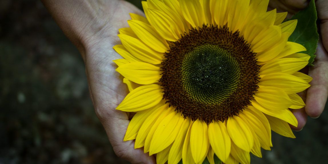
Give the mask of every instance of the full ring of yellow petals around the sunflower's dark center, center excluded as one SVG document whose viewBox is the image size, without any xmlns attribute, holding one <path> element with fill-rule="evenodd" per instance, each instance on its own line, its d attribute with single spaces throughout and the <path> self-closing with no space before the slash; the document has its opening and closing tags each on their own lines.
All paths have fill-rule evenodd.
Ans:
<svg viewBox="0 0 328 164">
<path fill-rule="evenodd" d="M 148 0 L 142 2 L 146 17 L 131 14 L 130 28 L 118 35 L 122 45 L 113 48 L 124 59 L 114 62 L 130 93 L 116 108 L 137 112 L 124 140 L 135 139 L 135 148 L 157 154 L 157 162 L 214 163 L 214 154 L 227 164 L 250 163 L 250 152 L 261 157 L 260 148 L 270 150 L 271 130 L 294 138 L 289 124 L 297 126 L 291 109 L 305 106 L 296 94 L 312 78 L 297 72 L 309 56 L 298 53 L 302 45 L 288 42 L 297 21 L 286 21 L 287 13 L 267 11 L 269 0 Z M 258 89 L 249 106 L 223 122 L 205 123 L 184 118 L 165 104 L 160 86 L 161 62 L 170 45 L 190 29 L 203 24 L 238 31 L 256 52 Z"/>
</svg>

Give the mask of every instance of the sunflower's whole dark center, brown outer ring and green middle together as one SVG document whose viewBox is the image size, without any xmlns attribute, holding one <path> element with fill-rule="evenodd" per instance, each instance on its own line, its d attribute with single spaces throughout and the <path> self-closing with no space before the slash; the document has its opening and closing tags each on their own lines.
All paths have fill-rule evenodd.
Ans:
<svg viewBox="0 0 328 164">
<path fill-rule="evenodd" d="M 192 120 L 224 121 L 250 104 L 259 66 L 249 44 L 225 26 L 203 26 L 172 42 L 162 62 L 163 97 Z"/>
</svg>

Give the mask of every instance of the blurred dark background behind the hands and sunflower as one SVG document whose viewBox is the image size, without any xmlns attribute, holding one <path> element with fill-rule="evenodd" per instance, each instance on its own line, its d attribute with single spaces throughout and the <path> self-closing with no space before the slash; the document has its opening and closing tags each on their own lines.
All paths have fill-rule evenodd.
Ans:
<svg viewBox="0 0 328 164">
<path fill-rule="evenodd" d="M 140 0 L 130 0 L 141 7 Z M 328 163 L 328 109 L 252 163 Z M 0 164 L 127 163 L 113 153 L 84 64 L 38 0 L 0 1 Z"/>
</svg>

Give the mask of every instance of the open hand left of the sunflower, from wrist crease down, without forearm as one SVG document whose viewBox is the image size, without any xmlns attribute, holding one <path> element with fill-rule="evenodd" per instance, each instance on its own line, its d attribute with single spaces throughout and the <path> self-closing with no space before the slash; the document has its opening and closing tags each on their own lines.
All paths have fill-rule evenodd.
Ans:
<svg viewBox="0 0 328 164">
<path fill-rule="evenodd" d="M 112 3 L 112 2 L 104 2 Z M 126 96 L 127 87 L 122 83 L 116 65 L 112 62 L 122 58 L 113 50 L 120 44 L 119 28 L 128 27 L 129 13 L 143 13 L 125 1 L 105 5 L 110 12 L 98 16 L 103 27 L 94 36 L 83 39 L 85 64 L 90 94 L 95 112 L 103 124 L 115 154 L 131 163 L 155 163 L 153 156 L 144 154 L 143 149 L 134 149 L 134 141 L 123 141 L 129 125 L 129 113 L 115 110 Z"/>
</svg>

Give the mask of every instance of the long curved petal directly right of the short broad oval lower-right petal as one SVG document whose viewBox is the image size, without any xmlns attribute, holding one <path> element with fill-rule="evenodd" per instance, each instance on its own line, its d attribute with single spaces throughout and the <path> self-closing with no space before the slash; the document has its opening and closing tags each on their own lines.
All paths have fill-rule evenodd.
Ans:
<svg viewBox="0 0 328 164">
<path fill-rule="evenodd" d="M 261 147 L 265 150 L 271 150 L 271 129 L 265 115 L 253 106 L 248 106 L 245 111 L 241 112 L 246 118 L 250 127 L 256 133 Z"/>
</svg>

